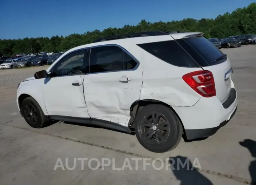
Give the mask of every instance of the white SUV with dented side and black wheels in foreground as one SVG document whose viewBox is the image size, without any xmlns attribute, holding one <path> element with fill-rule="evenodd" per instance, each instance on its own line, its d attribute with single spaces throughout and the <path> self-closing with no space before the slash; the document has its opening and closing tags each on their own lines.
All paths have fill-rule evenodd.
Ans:
<svg viewBox="0 0 256 185">
<path fill-rule="evenodd" d="M 142 32 L 70 49 L 18 85 L 21 115 L 135 132 L 153 152 L 213 135 L 234 115 L 237 93 L 227 55 L 202 33 Z"/>
</svg>

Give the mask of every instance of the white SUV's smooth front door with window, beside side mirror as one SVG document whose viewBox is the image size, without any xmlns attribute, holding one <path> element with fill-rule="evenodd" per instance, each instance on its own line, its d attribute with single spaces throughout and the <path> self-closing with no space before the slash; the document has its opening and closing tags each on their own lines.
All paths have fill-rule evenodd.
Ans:
<svg viewBox="0 0 256 185">
<path fill-rule="evenodd" d="M 82 84 L 86 53 L 87 49 L 68 53 L 50 69 L 43 86 L 50 116 L 89 118 Z"/>
</svg>

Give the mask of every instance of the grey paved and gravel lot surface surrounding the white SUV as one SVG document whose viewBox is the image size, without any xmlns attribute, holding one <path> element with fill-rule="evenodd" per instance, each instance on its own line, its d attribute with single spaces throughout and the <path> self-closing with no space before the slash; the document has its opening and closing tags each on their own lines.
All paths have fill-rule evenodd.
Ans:
<svg viewBox="0 0 256 185">
<path fill-rule="evenodd" d="M 176 149 L 163 154 L 147 151 L 133 135 L 106 129 L 72 123 L 29 127 L 18 113 L 16 88 L 20 81 L 48 66 L 0 71 L 0 184 L 251 184 L 256 181 L 256 45 L 222 51 L 234 69 L 237 113 L 208 139 L 182 140 Z M 246 144 L 246 139 L 252 141 Z M 122 167 L 125 158 L 180 156 L 191 162 L 197 158 L 202 170 L 143 170 L 142 165 L 138 170 L 91 170 L 87 163 L 85 170 L 81 170 L 81 163 L 75 170 L 53 170 L 58 158 L 65 163 L 65 158 L 109 157 Z"/>
</svg>

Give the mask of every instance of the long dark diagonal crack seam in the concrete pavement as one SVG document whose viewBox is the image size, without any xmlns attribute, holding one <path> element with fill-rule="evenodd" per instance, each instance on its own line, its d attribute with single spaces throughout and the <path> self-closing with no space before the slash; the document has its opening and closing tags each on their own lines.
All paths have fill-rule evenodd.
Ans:
<svg viewBox="0 0 256 185">
<path fill-rule="evenodd" d="M 12 120 L 7 121 L 6 123 L 2 123 L 2 125 L 13 127 L 13 128 L 18 128 L 18 129 L 22 129 L 22 130 L 26 130 L 26 131 L 30 131 L 30 132 L 34 132 L 34 133 L 39 133 L 39 134 L 43 134 L 43 135 L 49 135 L 49 136 L 52 136 L 52 137 L 55 137 L 55 138 L 61 138 L 61 139 L 65 139 L 65 140 L 69 140 L 69 141 L 73 141 L 73 142 L 78 142 L 78 143 L 82 143 L 84 145 L 90 145 L 90 146 L 94 146 L 94 147 L 103 148 L 103 149 L 106 149 L 106 150 L 116 151 L 118 153 L 127 154 L 127 155 L 131 155 L 131 156 L 135 156 L 135 157 L 145 157 L 145 158 L 151 158 L 153 160 L 156 159 L 155 157 L 135 154 L 135 153 L 132 153 L 132 152 L 129 152 L 129 151 L 126 151 L 126 150 L 119 150 L 119 149 L 115 149 L 115 148 L 111 148 L 111 147 L 105 147 L 105 146 L 102 146 L 102 145 L 98 145 L 98 144 L 95 144 L 95 143 L 89 143 L 89 142 L 85 142 L 85 141 L 80 141 L 80 140 L 75 140 L 75 139 L 62 137 L 60 135 L 53 135 L 53 134 L 49 134 L 49 133 L 42 133 L 42 132 L 38 132 L 38 131 L 32 131 L 29 128 L 8 125 L 7 123 L 9 123 L 9 122 L 12 122 Z M 163 161 L 165 161 L 165 160 L 163 160 Z M 216 175 L 216 176 L 220 176 L 220 177 L 226 177 L 226 178 L 229 178 L 229 179 L 233 179 L 233 180 L 236 180 L 237 182 L 244 183 L 244 184 L 251 184 L 252 183 L 251 180 L 244 179 L 242 177 L 233 176 L 233 175 L 228 175 L 226 173 L 221 173 L 221 172 L 216 172 L 216 171 L 206 170 L 206 169 L 198 169 L 196 167 L 194 167 L 194 169 L 198 170 L 198 171 L 201 171 L 201 172 L 204 172 L 204 173 L 211 174 L 211 175 Z"/>
</svg>

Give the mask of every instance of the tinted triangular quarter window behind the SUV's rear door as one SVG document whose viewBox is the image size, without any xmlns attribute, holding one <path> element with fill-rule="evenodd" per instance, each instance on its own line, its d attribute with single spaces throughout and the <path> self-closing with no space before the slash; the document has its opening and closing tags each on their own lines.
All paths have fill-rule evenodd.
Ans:
<svg viewBox="0 0 256 185">
<path fill-rule="evenodd" d="M 207 39 L 206 41 L 210 43 Z M 169 64 L 180 67 L 199 67 L 193 58 L 174 40 L 138 44 L 138 46 Z M 213 44 L 211 46 L 215 47 Z"/>
</svg>

